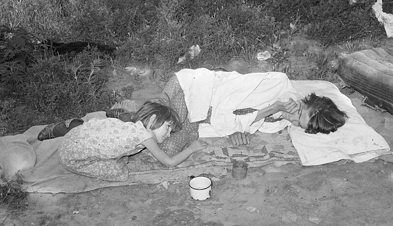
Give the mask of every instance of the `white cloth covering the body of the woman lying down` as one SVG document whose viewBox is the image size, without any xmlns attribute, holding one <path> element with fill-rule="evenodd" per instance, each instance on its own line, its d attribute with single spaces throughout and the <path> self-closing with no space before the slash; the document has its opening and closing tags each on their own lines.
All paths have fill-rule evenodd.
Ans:
<svg viewBox="0 0 393 226">
<path fill-rule="evenodd" d="M 233 111 L 243 108 L 260 110 L 278 100 L 301 98 L 286 75 L 281 72 L 242 75 L 237 72 L 214 72 L 200 68 L 183 69 L 175 75 L 184 90 L 191 122 L 205 119 L 209 106 L 212 106 L 210 124 L 199 125 L 201 138 L 225 137 L 238 131 L 251 134 L 257 130 L 264 133 L 278 132 L 289 122 L 281 120 L 264 123 L 262 119 L 253 123 L 257 112 L 235 115 Z M 280 115 L 281 113 L 277 113 L 275 116 Z"/>
</svg>

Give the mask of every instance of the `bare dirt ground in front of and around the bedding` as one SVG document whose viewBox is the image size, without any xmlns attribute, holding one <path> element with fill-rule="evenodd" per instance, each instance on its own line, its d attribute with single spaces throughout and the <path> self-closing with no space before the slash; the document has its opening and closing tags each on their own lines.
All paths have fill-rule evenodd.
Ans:
<svg viewBox="0 0 393 226">
<path fill-rule="evenodd" d="M 292 67 L 306 66 L 301 60 L 289 60 Z M 250 64 L 241 59 L 218 67 L 239 73 L 271 69 L 266 62 Z M 138 78 L 130 74 L 115 76 L 111 85 L 117 90 L 133 87 L 135 100 L 158 97 L 163 87 L 163 83 L 150 82 L 143 71 Z M 377 132 L 393 120 L 389 113 L 362 106 L 360 93 L 349 97 Z M 392 146 L 392 138 L 386 139 Z M 168 186 L 138 184 L 79 194 L 29 194 L 24 211 L 0 207 L 0 225 L 381 226 L 393 222 L 393 163 L 380 159 L 312 167 L 288 164 L 249 168 L 243 180 L 234 179 L 231 171 L 225 176 L 210 176 L 213 193 L 204 201 L 190 197 L 189 178 L 170 181 Z M 254 212 L 247 210 L 250 206 Z"/>
</svg>

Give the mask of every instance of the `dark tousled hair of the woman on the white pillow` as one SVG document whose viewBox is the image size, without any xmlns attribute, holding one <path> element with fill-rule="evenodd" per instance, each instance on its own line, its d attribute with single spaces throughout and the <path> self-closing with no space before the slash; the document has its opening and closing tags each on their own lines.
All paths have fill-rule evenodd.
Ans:
<svg viewBox="0 0 393 226">
<path fill-rule="evenodd" d="M 345 124 L 348 115 L 338 110 L 336 104 L 328 97 L 317 96 L 315 93 L 303 98 L 303 104 L 310 109 L 310 120 L 306 133 L 330 134 Z"/>
</svg>

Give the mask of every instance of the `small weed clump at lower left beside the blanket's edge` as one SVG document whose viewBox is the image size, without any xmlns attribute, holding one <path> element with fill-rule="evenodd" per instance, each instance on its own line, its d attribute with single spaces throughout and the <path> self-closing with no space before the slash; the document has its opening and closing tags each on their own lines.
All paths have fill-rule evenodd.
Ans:
<svg viewBox="0 0 393 226">
<path fill-rule="evenodd" d="M 22 188 L 23 175 L 16 173 L 15 176 L 17 178 L 16 182 L 1 177 L 0 206 L 6 204 L 14 210 L 25 210 L 27 208 L 28 192 Z"/>
</svg>

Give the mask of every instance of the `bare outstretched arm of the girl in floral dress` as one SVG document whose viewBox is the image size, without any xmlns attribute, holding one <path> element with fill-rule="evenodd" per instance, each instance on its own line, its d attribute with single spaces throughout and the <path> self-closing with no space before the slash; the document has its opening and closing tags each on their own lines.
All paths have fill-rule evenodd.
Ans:
<svg viewBox="0 0 393 226">
<path fill-rule="evenodd" d="M 145 146 L 150 153 L 156 158 L 160 163 L 164 164 L 167 167 L 175 167 L 179 165 L 179 163 L 183 162 L 187 159 L 192 153 L 200 151 L 207 147 L 207 143 L 204 141 L 193 141 L 190 145 L 177 153 L 176 155 L 169 157 L 161 148 L 158 146 L 157 142 L 153 139 L 147 139 L 146 141 L 141 142 L 143 146 Z"/>
</svg>

